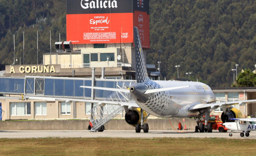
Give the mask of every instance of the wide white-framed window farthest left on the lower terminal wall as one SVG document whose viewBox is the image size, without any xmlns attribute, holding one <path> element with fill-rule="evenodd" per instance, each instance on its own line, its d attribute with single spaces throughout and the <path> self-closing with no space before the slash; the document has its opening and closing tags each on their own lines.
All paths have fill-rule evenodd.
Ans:
<svg viewBox="0 0 256 156">
<path fill-rule="evenodd" d="M 11 102 L 10 115 L 12 116 L 25 116 L 31 114 L 30 102 Z"/>
</svg>

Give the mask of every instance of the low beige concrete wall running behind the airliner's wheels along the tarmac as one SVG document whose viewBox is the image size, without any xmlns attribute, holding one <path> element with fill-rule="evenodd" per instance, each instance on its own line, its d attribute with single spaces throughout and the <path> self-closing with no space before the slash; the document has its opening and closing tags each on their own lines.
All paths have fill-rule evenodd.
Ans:
<svg viewBox="0 0 256 156">
<path fill-rule="evenodd" d="M 187 129 L 194 129 L 194 119 L 148 119 L 150 129 L 168 130 L 178 129 L 178 122 Z M 1 130 L 87 130 L 89 120 L 43 120 L 43 121 L 0 121 Z M 173 127 L 172 127 L 172 126 Z M 135 127 L 127 124 L 124 119 L 110 120 L 105 126 L 106 130 L 135 130 Z"/>
</svg>

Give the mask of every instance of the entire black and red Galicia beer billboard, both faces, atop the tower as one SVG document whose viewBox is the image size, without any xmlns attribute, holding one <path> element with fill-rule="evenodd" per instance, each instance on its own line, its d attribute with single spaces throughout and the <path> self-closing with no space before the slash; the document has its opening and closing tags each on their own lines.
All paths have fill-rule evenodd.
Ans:
<svg viewBox="0 0 256 156">
<path fill-rule="evenodd" d="M 67 0 L 67 40 L 73 44 L 132 43 L 136 26 L 144 36 L 143 48 L 149 48 L 148 5 L 148 0 L 147 4 L 143 0 Z M 135 14 L 142 19 L 134 20 Z"/>
</svg>

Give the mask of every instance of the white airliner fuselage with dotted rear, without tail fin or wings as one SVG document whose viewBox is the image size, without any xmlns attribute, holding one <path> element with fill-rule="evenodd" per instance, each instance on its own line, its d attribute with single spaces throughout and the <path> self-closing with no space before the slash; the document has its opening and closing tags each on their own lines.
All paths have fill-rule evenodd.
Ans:
<svg viewBox="0 0 256 156">
<path fill-rule="evenodd" d="M 199 112 L 188 108 L 215 99 L 211 88 L 201 82 L 147 81 L 132 85 L 131 92 L 136 103 L 146 112 L 157 117 L 195 117 Z M 148 89 L 189 86 L 186 88 L 144 94 Z"/>
</svg>

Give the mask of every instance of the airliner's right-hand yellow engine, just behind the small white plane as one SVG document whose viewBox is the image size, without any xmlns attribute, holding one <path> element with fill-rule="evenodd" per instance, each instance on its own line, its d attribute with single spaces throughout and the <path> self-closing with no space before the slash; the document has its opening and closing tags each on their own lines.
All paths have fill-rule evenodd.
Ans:
<svg viewBox="0 0 256 156">
<path fill-rule="evenodd" d="M 225 122 L 234 122 L 234 120 L 230 120 L 230 118 L 242 118 L 242 113 L 237 108 L 231 108 L 228 112 L 223 112 L 221 115 L 221 120 L 223 123 Z"/>
</svg>

